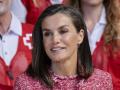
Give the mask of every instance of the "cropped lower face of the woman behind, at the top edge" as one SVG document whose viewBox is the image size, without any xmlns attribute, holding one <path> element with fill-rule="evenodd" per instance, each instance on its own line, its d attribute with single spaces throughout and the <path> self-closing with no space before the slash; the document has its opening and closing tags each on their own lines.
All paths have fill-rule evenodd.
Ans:
<svg viewBox="0 0 120 90">
<path fill-rule="evenodd" d="M 81 0 L 81 4 L 97 6 L 103 4 L 103 0 Z"/>
</svg>

